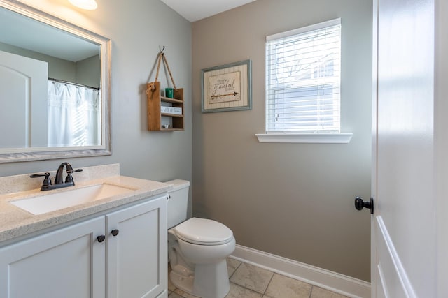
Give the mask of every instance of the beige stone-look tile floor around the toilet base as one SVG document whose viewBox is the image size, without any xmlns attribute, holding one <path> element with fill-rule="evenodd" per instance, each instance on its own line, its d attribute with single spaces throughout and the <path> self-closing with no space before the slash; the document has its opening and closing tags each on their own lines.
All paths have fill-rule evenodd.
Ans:
<svg viewBox="0 0 448 298">
<path fill-rule="evenodd" d="M 297 281 L 232 258 L 227 259 L 227 267 L 230 292 L 225 298 L 346 298 L 316 285 Z M 195 296 L 176 288 L 168 278 L 168 298 L 195 298 Z"/>
</svg>

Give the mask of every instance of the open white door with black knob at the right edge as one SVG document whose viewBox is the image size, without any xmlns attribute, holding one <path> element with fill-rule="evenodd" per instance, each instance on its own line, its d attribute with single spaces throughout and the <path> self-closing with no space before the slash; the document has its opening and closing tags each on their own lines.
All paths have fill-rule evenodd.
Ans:
<svg viewBox="0 0 448 298">
<path fill-rule="evenodd" d="M 446 115 L 448 104 L 436 90 L 439 4 L 374 0 L 372 297 L 448 297 L 439 282 L 448 278 L 440 276 L 448 124 L 437 108 Z"/>
</svg>

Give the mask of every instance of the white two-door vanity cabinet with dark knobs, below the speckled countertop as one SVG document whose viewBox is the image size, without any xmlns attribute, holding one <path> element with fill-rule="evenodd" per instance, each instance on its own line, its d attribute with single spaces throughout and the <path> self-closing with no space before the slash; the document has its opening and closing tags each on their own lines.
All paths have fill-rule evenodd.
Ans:
<svg viewBox="0 0 448 298">
<path fill-rule="evenodd" d="M 0 248 L 0 298 L 167 297 L 166 206 L 160 195 Z"/>
</svg>

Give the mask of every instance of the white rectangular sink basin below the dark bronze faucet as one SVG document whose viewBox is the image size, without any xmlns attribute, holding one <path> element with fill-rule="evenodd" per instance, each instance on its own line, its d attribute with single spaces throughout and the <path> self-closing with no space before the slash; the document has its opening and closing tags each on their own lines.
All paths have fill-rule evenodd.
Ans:
<svg viewBox="0 0 448 298">
<path fill-rule="evenodd" d="M 48 195 L 41 195 L 40 193 L 36 197 L 10 201 L 10 203 L 31 214 L 44 214 L 86 202 L 102 200 L 130 191 L 134 190 L 112 184 L 96 184 L 75 189 L 62 188 L 57 193 L 50 193 Z"/>
</svg>

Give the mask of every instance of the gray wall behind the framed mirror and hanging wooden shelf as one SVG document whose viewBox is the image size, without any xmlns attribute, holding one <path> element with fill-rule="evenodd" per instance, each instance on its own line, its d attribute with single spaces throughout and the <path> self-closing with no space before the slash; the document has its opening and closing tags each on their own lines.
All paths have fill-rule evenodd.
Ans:
<svg viewBox="0 0 448 298">
<path fill-rule="evenodd" d="M 68 1 L 27 0 L 48 11 L 112 40 L 112 155 L 71 158 L 73 167 L 120 163 L 122 174 L 166 181 L 191 180 L 191 24 L 159 0 L 99 1 L 93 11 L 78 10 Z M 165 54 L 178 87 L 184 88 L 185 131 L 149 132 L 146 121 L 146 83 L 155 59 Z M 161 70 L 160 81 L 165 86 Z M 0 164 L 0 176 L 56 170 L 65 160 Z M 76 177 L 75 177 L 76 181 Z"/>
</svg>

